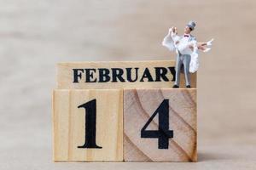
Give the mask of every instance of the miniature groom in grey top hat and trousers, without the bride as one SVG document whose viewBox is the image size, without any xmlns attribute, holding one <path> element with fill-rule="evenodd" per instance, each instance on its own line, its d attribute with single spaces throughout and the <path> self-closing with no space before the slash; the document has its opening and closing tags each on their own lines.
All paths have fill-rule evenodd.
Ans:
<svg viewBox="0 0 256 170">
<path fill-rule="evenodd" d="M 172 27 L 172 40 L 174 41 L 175 45 L 181 44 L 189 44 L 188 42 L 196 41 L 195 37 L 190 34 L 191 31 L 195 30 L 195 22 L 190 21 L 189 24 L 184 28 L 184 35 L 183 37 L 177 37 L 177 28 Z M 177 40 L 178 39 L 178 40 Z M 177 41 L 176 41 L 177 40 Z M 190 64 L 190 52 L 186 53 L 186 51 L 193 51 L 194 46 L 189 45 L 188 47 L 180 47 L 177 48 L 177 59 L 176 59 L 176 80 L 174 86 L 172 88 L 179 88 L 180 82 L 180 72 L 184 69 L 185 81 L 186 81 L 186 88 L 191 88 L 190 86 L 190 73 L 189 73 L 189 64 Z M 180 51 L 182 50 L 182 51 Z"/>
</svg>

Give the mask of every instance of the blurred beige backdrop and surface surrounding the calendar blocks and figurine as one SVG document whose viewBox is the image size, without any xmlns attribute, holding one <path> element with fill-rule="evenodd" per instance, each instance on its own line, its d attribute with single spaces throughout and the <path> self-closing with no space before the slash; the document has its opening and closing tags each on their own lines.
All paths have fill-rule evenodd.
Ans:
<svg viewBox="0 0 256 170">
<path fill-rule="evenodd" d="M 0 1 L 1 169 L 255 169 L 254 0 Z M 214 37 L 198 72 L 199 163 L 54 164 L 55 64 L 174 59 L 160 45 L 170 26 L 197 23 Z"/>
</svg>

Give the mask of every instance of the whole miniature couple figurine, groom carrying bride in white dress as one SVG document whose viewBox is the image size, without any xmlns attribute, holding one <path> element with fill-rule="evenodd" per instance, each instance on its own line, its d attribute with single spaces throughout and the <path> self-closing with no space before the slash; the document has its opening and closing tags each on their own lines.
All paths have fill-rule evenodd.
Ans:
<svg viewBox="0 0 256 170">
<path fill-rule="evenodd" d="M 199 59 L 198 49 L 203 52 L 208 52 L 212 46 L 212 40 L 209 42 L 197 42 L 196 38 L 192 36 L 191 31 L 195 30 L 195 22 L 189 21 L 189 24 L 184 28 L 184 35 L 177 36 L 177 28 L 172 27 L 169 29 L 167 36 L 164 38 L 162 45 L 171 51 L 176 51 L 176 80 L 172 88 L 179 88 L 180 72 L 183 66 L 183 72 L 185 75 L 186 88 L 190 86 L 190 74 L 198 70 Z"/>
</svg>

